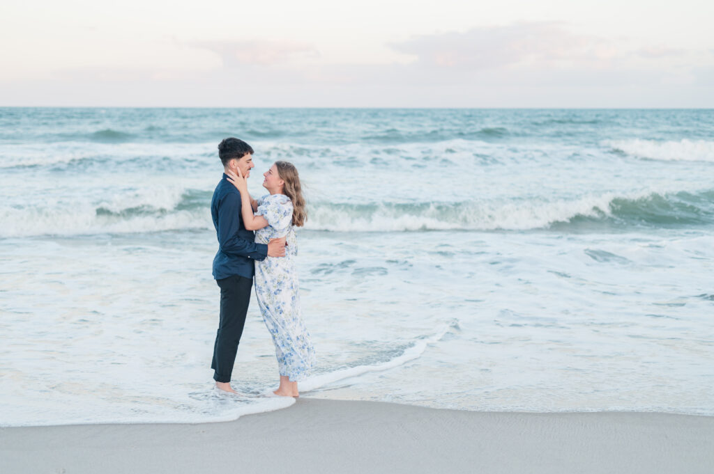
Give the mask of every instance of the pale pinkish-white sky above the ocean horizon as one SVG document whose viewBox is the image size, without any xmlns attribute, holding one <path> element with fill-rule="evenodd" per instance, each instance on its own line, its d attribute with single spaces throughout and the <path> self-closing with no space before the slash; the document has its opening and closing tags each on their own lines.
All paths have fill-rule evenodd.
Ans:
<svg viewBox="0 0 714 474">
<path fill-rule="evenodd" d="M 714 1 L 19 1 L 0 106 L 713 108 Z"/>
</svg>

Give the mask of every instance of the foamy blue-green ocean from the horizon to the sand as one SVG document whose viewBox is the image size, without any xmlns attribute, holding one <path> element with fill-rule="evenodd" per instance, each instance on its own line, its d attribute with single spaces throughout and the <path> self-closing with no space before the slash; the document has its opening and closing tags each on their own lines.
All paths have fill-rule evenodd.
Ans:
<svg viewBox="0 0 714 474">
<path fill-rule="evenodd" d="M 228 136 L 306 190 L 303 396 L 714 415 L 714 110 L 0 108 L 0 426 L 293 403 L 254 299 L 212 388 Z"/>
</svg>

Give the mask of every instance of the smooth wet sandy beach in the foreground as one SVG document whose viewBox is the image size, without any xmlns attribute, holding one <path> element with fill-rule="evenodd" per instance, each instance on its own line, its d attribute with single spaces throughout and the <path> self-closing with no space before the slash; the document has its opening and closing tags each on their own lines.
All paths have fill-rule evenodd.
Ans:
<svg viewBox="0 0 714 474">
<path fill-rule="evenodd" d="M 2 473 L 711 473 L 714 417 L 301 398 L 227 423 L 0 429 Z"/>
</svg>

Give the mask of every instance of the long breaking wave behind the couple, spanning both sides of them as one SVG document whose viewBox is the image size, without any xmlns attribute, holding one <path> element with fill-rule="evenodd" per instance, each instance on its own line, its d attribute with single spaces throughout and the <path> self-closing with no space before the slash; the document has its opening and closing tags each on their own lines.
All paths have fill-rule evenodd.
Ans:
<svg viewBox="0 0 714 474">
<path fill-rule="evenodd" d="M 149 187 L 102 202 L 0 207 L 0 237 L 211 230 L 212 191 Z M 588 195 L 578 199 L 463 202 L 311 202 L 307 230 L 410 232 L 538 230 L 579 232 L 714 224 L 714 190 Z"/>
</svg>

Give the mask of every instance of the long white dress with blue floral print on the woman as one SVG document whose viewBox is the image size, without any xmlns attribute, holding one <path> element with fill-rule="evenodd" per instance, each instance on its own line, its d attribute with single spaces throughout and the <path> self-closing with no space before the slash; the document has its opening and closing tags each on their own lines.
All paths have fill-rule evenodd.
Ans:
<svg viewBox="0 0 714 474">
<path fill-rule="evenodd" d="M 270 239 L 286 237 L 285 257 L 256 260 L 256 297 L 273 336 L 281 376 L 301 381 L 315 364 L 315 349 L 300 310 L 293 203 L 286 195 L 266 195 L 258 200 L 256 215 L 268 221 L 267 227 L 256 231 L 256 242 L 267 244 Z"/>
</svg>

